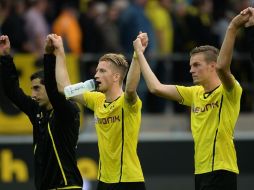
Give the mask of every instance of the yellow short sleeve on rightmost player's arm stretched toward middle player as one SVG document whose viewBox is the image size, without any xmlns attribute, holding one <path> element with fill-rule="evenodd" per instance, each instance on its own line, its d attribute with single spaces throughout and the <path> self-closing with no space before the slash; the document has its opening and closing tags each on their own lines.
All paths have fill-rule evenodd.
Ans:
<svg viewBox="0 0 254 190">
<path fill-rule="evenodd" d="M 178 86 L 176 85 L 176 89 L 182 97 L 182 101 L 179 104 L 191 106 L 193 103 L 193 90 L 194 87 L 186 87 L 186 86 Z"/>
</svg>

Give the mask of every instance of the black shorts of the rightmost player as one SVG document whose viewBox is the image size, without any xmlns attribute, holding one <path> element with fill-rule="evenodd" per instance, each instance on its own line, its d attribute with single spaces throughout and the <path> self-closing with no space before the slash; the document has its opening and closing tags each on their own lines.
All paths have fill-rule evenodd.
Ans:
<svg viewBox="0 0 254 190">
<path fill-rule="evenodd" d="M 195 175 L 195 190 L 237 190 L 237 174 L 217 170 Z"/>
</svg>

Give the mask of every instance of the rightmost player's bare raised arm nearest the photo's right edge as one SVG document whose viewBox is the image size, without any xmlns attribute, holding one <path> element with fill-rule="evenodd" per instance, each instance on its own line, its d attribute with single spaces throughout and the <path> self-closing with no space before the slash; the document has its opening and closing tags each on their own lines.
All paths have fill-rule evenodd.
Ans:
<svg viewBox="0 0 254 190">
<path fill-rule="evenodd" d="M 248 19 L 249 14 L 239 14 L 232 19 L 227 28 L 226 35 L 217 59 L 216 72 L 223 86 L 227 90 L 231 90 L 235 84 L 234 78 L 230 71 L 230 65 L 237 31 L 248 21 Z"/>
</svg>

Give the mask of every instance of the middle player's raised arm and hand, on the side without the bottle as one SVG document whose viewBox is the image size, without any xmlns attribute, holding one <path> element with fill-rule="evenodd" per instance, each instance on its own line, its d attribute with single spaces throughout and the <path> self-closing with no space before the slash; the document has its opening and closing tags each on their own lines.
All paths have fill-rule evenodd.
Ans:
<svg viewBox="0 0 254 190">
<path fill-rule="evenodd" d="M 137 38 L 140 39 L 142 45 L 142 52 L 145 51 L 148 45 L 147 33 L 139 33 Z M 125 98 L 130 104 L 134 104 L 137 100 L 137 87 L 140 80 L 140 66 L 136 53 L 134 53 L 131 65 L 127 74 L 125 86 Z"/>
</svg>

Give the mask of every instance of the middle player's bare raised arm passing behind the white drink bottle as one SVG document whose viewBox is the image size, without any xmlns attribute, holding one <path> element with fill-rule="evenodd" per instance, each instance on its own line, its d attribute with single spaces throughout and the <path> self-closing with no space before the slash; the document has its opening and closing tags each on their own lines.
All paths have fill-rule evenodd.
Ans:
<svg viewBox="0 0 254 190">
<path fill-rule="evenodd" d="M 64 94 L 64 88 L 70 86 L 71 82 L 66 66 L 63 40 L 61 36 L 58 36 L 56 34 L 48 35 L 47 40 L 50 41 L 52 44 L 47 43 L 48 47 L 46 47 L 46 49 L 47 48 L 51 49 L 56 56 L 55 75 L 57 88 L 60 93 Z M 73 96 L 71 99 L 81 104 L 85 104 L 83 96 L 81 94 Z"/>
</svg>

